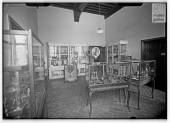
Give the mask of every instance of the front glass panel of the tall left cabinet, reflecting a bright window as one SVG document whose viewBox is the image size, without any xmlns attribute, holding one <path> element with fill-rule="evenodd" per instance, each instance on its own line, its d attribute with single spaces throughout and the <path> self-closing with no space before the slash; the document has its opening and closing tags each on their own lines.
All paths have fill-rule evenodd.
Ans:
<svg viewBox="0 0 170 123">
<path fill-rule="evenodd" d="M 3 110 L 5 118 L 31 118 L 31 74 L 28 33 L 4 32 Z"/>
</svg>

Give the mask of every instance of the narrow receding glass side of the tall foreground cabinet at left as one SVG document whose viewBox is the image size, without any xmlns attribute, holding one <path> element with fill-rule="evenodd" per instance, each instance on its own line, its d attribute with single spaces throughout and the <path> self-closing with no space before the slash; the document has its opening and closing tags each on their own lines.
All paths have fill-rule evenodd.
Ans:
<svg viewBox="0 0 170 123">
<path fill-rule="evenodd" d="M 46 79 L 44 63 L 44 45 L 35 35 L 32 36 L 33 79 L 36 118 L 42 118 L 46 99 Z"/>
</svg>

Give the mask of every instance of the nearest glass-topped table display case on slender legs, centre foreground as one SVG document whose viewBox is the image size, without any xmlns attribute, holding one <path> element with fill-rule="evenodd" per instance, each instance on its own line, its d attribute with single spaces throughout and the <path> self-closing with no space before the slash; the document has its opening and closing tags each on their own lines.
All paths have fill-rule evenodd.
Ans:
<svg viewBox="0 0 170 123">
<path fill-rule="evenodd" d="M 89 117 L 92 114 L 92 95 L 96 92 L 119 90 L 119 102 L 121 102 L 121 90 L 124 93 L 124 102 L 127 99 L 129 107 L 130 62 L 116 62 L 106 64 L 104 62 L 86 64 L 86 80 L 88 85 L 87 104 L 90 104 Z M 128 97 L 126 98 L 127 90 Z"/>
</svg>

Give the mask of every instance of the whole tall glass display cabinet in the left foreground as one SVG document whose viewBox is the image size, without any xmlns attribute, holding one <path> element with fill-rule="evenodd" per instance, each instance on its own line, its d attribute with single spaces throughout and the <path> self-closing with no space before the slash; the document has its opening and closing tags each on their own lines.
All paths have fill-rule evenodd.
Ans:
<svg viewBox="0 0 170 123">
<path fill-rule="evenodd" d="M 31 30 L 4 30 L 3 117 L 42 117 L 45 95 L 43 44 Z"/>
</svg>

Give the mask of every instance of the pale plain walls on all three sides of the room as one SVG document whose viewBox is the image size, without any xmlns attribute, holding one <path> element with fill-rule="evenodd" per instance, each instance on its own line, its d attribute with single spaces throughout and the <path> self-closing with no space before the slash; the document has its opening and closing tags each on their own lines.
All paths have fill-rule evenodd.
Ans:
<svg viewBox="0 0 170 123">
<path fill-rule="evenodd" d="M 128 53 L 140 59 L 140 42 L 143 39 L 164 36 L 165 25 L 152 23 L 152 4 L 125 7 L 106 20 L 103 16 L 82 13 L 74 22 L 73 11 L 57 7 L 27 7 L 9 4 L 4 7 L 4 28 L 8 28 L 7 15 L 25 29 L 39 35 L 43 43 L 101 45 L 128 40 Z M 104 34 L 97 34 L 102 27 Z"/>
</svg>

